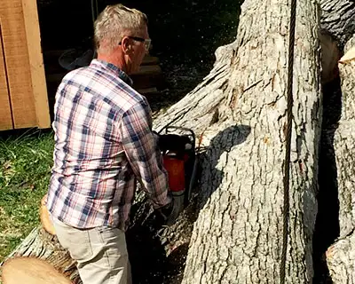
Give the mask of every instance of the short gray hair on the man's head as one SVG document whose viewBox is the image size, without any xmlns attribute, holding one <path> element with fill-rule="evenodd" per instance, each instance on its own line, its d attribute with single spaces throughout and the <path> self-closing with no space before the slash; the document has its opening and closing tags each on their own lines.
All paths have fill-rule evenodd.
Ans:
<svg viewBox="0 0 355 284">
<path fill-rule="evenodd" d="M 148 23 L 146 14 L 122 4 L 106 6 L 94 23 L 94 43 L 97 51 L 110 52 L 123 36 L 139 31 Z M 127 33 L 127 35 L 125 35 Z"/>
</svg>

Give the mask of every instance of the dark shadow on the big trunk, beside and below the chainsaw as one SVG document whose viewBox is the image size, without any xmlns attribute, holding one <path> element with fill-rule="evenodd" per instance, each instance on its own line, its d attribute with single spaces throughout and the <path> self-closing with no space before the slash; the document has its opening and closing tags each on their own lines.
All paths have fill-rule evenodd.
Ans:
<svg viewBox="0 0 355 284">
<path fill-rule="evenodd" d="M 200 169 L 197 172 L 199 185 L 196 186 L 193 200 L 186 207 L 185 212 L 177 220 L 177 224 L 167 228 L 163 226 L 162 219 L 151 212 L 146 198 L 132 206 L 131 225 L 127 231 L 127 245 L 130 254 L 133 284 L 143 283 L 181 283 L 185 268 L 185 257 L 188 251 L 188 241 L 177 244 L 167 256 L 166 248 L 171 242 L 172 235 L 181 232 L 190 234 L 193 223 L 199 211 L 209 200 L 209 196 L 221 185 L 225 173 L 217 170 L 219 158 L 225 152 L 230 152 L 233 146 L 243 143 L 250 133 L 247 125 L 235 125 L 220 131 L 211 139 L 209 147 L 201 149 L 199 154 Z M 208 164 L 207 164 L 208 163 Z M 210 170 L 213 185 L 203 184 L 201 165 Z M 190 229 L 186 229 L 190 226 Z M 173 241 L 172 241 L 173 242 Z"/>
</svg>

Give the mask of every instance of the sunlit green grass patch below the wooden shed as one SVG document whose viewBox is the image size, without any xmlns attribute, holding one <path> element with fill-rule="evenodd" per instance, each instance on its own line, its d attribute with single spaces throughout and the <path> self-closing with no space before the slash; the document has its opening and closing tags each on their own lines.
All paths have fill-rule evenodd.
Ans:
<svg viewBox="0 0 355 284">
<path fill-rule="evenodd" d="M 52 133 L 0 138 L 0 262 L 39 224 L 53 145 Z"/>
</svg>

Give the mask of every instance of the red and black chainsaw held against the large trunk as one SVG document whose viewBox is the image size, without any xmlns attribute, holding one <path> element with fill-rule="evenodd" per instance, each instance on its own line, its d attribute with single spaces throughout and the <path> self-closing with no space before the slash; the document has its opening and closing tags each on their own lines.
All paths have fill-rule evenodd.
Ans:
<svg viewBox="0 0 355 284">
<path fill-rule="evenodd" d="M 178 126 L 166 126 L 158 135 L 170 192 L 182 211 L 191 201 L 196 179 L 195 135 L 193 130 Z"/>
</svg>

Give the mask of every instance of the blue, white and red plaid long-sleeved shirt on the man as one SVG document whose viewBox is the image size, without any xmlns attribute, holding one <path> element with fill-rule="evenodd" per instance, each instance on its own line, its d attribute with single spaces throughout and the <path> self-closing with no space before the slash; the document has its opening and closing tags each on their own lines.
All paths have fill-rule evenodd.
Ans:
<svg viewBox="0 0 355 284">
<path fill-rule="evenodd" d="M 128 75 L 98 59 L 59 85 L 47 206 L 67 225 L 125 230 L 136 177 L 155 208 L 170 202 L 150 106 L 130 85 Z"/>
</svg>

